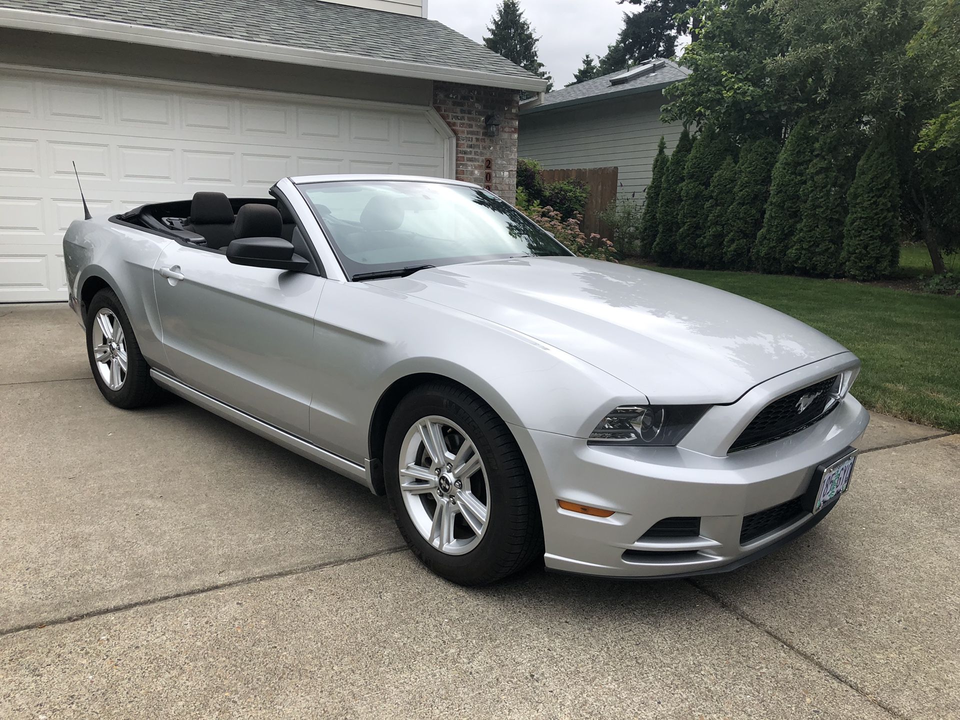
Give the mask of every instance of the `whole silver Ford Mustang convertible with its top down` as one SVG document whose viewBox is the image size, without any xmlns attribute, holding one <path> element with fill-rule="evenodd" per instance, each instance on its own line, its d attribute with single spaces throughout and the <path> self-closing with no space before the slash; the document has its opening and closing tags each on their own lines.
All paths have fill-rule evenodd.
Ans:
<svg viewBox="0 0 960 720">
<path fill-rule="evenodd" d="M 464 182 L 270 194 L 70 226 L 70 304 L 109 402 L 170 391 L 386 494 L 417 557 L 463 585 L 538 558 L 729 570 L 847 490 L 859 361 L 807 325 L 575 257 Z"/>
</svg>

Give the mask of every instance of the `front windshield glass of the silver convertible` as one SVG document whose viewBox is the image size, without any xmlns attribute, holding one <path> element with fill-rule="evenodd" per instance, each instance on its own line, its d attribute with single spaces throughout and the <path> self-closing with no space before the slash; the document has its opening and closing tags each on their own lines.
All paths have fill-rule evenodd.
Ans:
<svg viewBox="0 0 960 720">
<path fill-rule="evenodd" d="M 348 180 L 300 185 L 349 277 L 420 265 L 568 255 L 510 204 L 466 185 Z"/>
</svg>

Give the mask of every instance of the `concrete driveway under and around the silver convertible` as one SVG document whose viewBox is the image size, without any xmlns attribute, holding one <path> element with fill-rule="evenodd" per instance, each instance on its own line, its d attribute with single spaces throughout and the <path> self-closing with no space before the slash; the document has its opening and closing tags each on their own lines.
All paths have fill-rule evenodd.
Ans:
<svg viewBox="0 0 960 720">
<path fill-rule="evenodd" d="M 65 307 L 0 305 L 0 348 L 0 717 L 960 717 L 960 436 L 876 416 L 732 574 L 468 590 L 348 480 L 110 407 Z"/>
</svg>

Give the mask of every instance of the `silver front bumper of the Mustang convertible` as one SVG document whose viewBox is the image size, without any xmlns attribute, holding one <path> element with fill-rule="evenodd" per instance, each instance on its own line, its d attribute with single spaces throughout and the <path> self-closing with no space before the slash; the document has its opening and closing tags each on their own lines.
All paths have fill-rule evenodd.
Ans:
<svg viewBox="0 0 960 720">
<path fill-rule="evenodd" d="M 738 433 L 735 428 L 770 397 L 836 374 L 840 367 L 837 361 L 815 365 L 763 383 L 733 405 L 708 412 L 704 420 L 713 414 L 715 422 L 727 422 L 731 408 L 739 405 L 749 417 L 731 421 L 729 434 Z M 732 569 L 817 524 L 831 508 L 816 516 L 786 517 L 763 535 L 740 541 L 745 516 L 803 495 L 816 468 L 853 444 L 868 421 L 867 411 L 848 395 L 826 418 L 801 432 L 730 455 L 690 446 L 596 446 L 585 439 L 513 429 L 537 487 L 548 568 L 623 578 L 676 577 Z M 708 430 L 713 443 L 717 430 Z M 701 428 L 706 438 L 705 432 Z M 574 513 L 560 508 L 558 500 L 612 510 L 613 515 Z M 701 518 L 699 536 L 643 538 L 660 520 L 687 516 Z"/>
</svg>

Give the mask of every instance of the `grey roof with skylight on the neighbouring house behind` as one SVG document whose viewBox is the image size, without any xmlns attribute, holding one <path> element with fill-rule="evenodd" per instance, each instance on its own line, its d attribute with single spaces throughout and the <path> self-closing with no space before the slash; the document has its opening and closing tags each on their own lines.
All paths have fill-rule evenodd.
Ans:
<svg viewBox="0 0 960 720">
<path fill-rule="evenodd" d="M 645 68 L 646 63 L 643 63 L 627 70 L 617 70 L 615 73 L 604 75 L 601 78 L 594 78 L 548 92 L 543 96 L 542 101 L 537 98 L 528 100 L 520 104 L 520 114 L 543 112 L 583 103 L 593 103 L 598 100 L 609 100 L 624 95 L 652 92 L 667 85 L 679 83 L 690 74 L 690 70 L 683 65 L 678 65 L 673 60 L 655 58 L 649 60 L 649 62 L 651 63 L 649 68 Z M 631 77 L 631 74 L 635 75 Z"/>
</svg>

